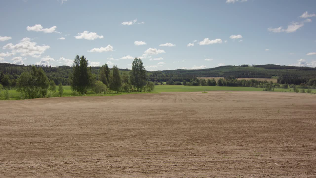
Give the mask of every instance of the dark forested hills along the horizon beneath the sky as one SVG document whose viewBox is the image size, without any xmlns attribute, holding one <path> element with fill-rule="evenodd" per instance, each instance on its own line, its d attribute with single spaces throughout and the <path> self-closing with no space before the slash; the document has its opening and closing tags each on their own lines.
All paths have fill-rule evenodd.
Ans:
<svg viewBox="0 0 316 178">
<path fill-rule="evenodd" d="M 40 66 L 38 66 L 40 67 Z M 63 85 L 69 85 L 68 78 L 71 73 L 69 66 L 48 67 L 41 66 L 47 77 L 54 80 L 56 84 L 62 82 Z M 11 79 L 16 79 L 22 72 L 30 71 L 31 66 L 15 65 L 8 63 L 0 63 L 0 77 L 9 74 Z M 100 67 L 92 67 L 92 73 L 98 76 Z M 129 73 L 128 69 L 119 69 L 120 73 Z M 280 65 L 240 65 L 240 66 L 221 66 L 208 69 L 198 70 L 164 70 L 147 72 L 148 79 L 151 81 L 189 81 L 195 77 L 236 77 L 236 78 L 272 78 L 281 77 L 290 83 L 303 83 L 308 79 L 316 78 L 316 68 L 313 67 L 296 67 L 296 66 L 280 66 Z M 293 80 L 293 81 L 292 81 Z M 294 81 L 295 80 L 295 81 Z M 284 82 L 286 82 L 284 81 Z M 282 82 L 281 82 L 282 83 Z"/>
</svg>

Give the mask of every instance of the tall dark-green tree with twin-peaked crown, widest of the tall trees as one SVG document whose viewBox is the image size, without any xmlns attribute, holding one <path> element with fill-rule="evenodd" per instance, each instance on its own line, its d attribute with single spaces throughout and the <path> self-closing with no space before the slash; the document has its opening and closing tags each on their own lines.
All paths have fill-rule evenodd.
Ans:
<svg viewBox="0 0 316 178">
<path fill-rule="evenodd" d="M 94 85 L 95 75 L 91 73 L 91 67 L 88 67 L 88 60 L 76 55 L 72 65 L 72 74 L 70 77 L 71 90 L 86 94 L 88 89 Z"/>
</svg>

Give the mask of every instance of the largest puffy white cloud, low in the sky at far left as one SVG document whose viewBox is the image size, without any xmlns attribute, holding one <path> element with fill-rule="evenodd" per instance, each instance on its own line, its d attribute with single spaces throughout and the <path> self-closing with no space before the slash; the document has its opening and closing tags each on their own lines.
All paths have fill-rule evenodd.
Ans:
<svg viewBox="0 0 316 178">
<path fill-rule="evenodd" d="M 12 43 L 3 46 L 3 49 L 11 49 L 12 53 L 21 53 L 21 56 L 40 57 L 50 46 L 36 46 L 36 42 L 31 42 L 30 38 L 23 38 L 21 42 L 13 45 Z"/>
</svg>

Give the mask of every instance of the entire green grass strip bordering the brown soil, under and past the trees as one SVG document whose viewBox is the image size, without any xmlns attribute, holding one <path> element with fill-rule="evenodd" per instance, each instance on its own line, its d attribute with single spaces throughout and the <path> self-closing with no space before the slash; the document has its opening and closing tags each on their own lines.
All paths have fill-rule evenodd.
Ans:
<svg viewBox="0 0 316 178">
<path fill-rule="evenodd" d="M 57 86 L 58 89 L 58 86 Z M 92 91 L 88 91 L 86 95 L 74 94 L 70 86 L 63 86 L 63 97 L 66 96 L 115 96 L 125 94 L 139 94 L 139 93 L 158 93 L 158 92 L 203 92 L 206 91 L 262 91 L 263 88 L 244 87 L 244 86 L 183 86 L 183 85 L 156 85 L 153 92 L 119 92 L 112 91 L 106 94 L 96 94 Z M 301 89 L 299 89 L 301 91 Z M 306 92 L 307 89 L 305 89 Z M 274 92 L 293 92 L 292 88 L 275 88 Z M 316 93 L 316 89 L 312 89 L 312 93 Z M 20 99 L 20 93 L 16 90 L 9 90 L 10 100 Z M 52 93 L 51 97 L 58 97 L 58 91 Z"/>
</svg>

